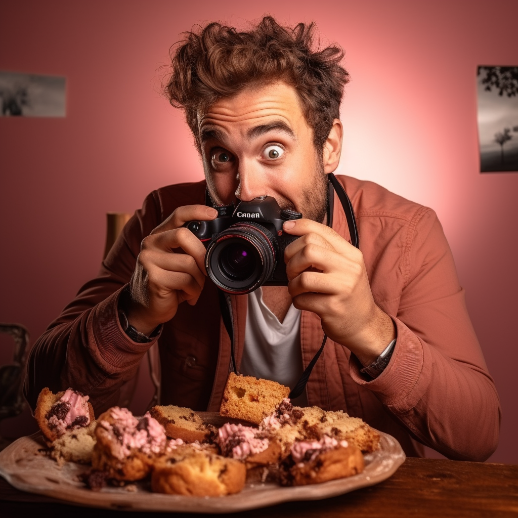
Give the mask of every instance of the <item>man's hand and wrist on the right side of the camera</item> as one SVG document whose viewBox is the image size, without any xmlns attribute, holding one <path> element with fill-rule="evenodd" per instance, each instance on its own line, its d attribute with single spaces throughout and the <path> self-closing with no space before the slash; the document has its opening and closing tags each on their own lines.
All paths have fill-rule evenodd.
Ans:
<svg viewBox="0 0 518 518">
<path fill-rule="evenodd" d="M 318 314 L 330 339 L 370 365 L 396 334 L 372 297 L 362 252 L 313 220 L 288 221 L 283 229 L 300 236 L 284 251 L 293 305 Z"/>
</svg>

